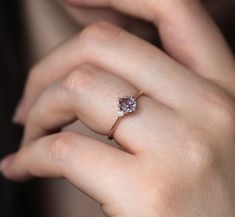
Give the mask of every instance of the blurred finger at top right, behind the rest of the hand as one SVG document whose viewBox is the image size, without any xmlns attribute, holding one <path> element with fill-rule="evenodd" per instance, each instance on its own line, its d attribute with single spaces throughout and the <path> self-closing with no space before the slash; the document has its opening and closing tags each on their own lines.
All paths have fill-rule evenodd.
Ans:
<svg viewBox="0 0 235 217">
<path fill-rule="evenodd" d="M 75 6 L 113 7 L 153 22 L 172 57 L 234 90 L 234 58 L 199 0 L 66 0 Z"/>
</svg>

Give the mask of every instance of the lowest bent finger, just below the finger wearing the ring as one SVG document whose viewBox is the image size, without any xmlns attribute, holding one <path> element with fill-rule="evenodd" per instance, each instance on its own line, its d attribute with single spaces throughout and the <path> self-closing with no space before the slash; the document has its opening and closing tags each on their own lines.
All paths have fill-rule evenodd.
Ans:
<svg viewBox="0 0 235 217">
<path fill-rule="evenodd" d="M 118 195 L 116 191 L 121 187 L 130 185 L 127 174 L 134 169 L 131 168 L 134 159 L 133 155 L 110 145 L 63 132 L 23 147 L 10 163 L 6 165 L 3 161 L 1 168 L 5 177 L 14 181 L 25 181 L 33 176 L 65 177 L 102 202 L 110 195 Z M 119 181 L 115 182 L 117 178 Z"/>
</svg>

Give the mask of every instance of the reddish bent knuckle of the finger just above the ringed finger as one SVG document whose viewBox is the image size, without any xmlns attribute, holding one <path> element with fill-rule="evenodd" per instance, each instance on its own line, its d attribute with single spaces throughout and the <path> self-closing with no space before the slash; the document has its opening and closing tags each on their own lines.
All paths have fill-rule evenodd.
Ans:
<svg viewBox="0 0 235 217">
<path fill-rule="evenodd" d="M 117 39 L 123 30 L 107 22 L 95 22 L 88 25 L 80 34 L 79 40 L 98 43 L 109 43 Z"/>
</svg>

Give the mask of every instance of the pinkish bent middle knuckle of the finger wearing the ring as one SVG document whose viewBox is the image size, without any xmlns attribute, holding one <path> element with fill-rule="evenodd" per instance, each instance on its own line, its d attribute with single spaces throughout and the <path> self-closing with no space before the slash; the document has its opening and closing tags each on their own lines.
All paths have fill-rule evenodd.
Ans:
<svg viewBox="0 0 235 217">
<path fill-rule="evenodd" d="M 76 71 L 68 75 L 62 84 L 65 93 L 87 92 L 94 83 L 97 70 L 90 65 L 82 65 Z"/>
</svg>

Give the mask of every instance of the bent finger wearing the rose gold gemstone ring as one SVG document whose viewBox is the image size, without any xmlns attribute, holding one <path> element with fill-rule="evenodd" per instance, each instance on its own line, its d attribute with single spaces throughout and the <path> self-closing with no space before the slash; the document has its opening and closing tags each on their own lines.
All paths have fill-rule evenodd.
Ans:
<svg viewBox="0 0 235 217">
<path fill-rule="evenodd" d="M 93 131 L 108 135 L 118 117 L 118 97 L 137 93 L 136 88 L 110 73 L 88 66 L 79 68 L 64 81 L 46 90 L 32 107 L 23 144 L 76 118 Z M 170 108 L 149 97 L 141 96 L 137 103 L 137 111 L 123 117 L 114 133 L 115 140 L 131 153 L 149 148 L 143 135 L 148 135 L 148 140 L 154 139 L 156 132 L 160 136 L 163 131 L 170 131 L 168 122 L 174 121 Z M 155 120 L 158 120 L 157 123 Z M 155 143 L 152 141 L 152 144 Z"/>
</svg>

